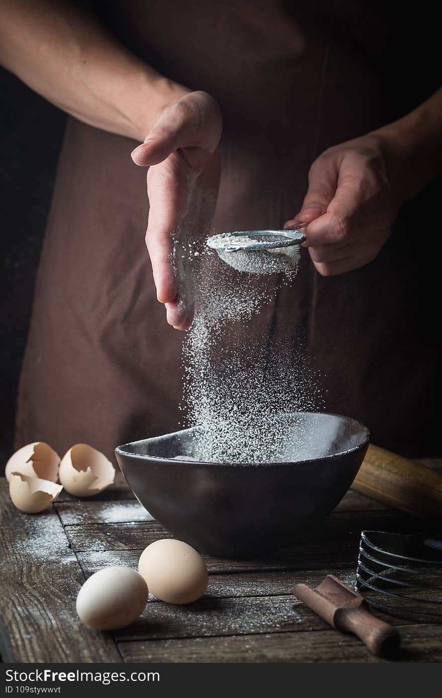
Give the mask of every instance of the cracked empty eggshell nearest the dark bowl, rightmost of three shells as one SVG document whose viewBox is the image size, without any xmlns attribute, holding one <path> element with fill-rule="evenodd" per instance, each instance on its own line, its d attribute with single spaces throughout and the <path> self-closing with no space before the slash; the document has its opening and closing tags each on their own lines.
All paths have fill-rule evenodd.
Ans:
<svg viewBox="0 0 442 698">
<path fill-rule="evenodd" d="M 115 479 L 115 468 L 106 456 L 86 443 L 75 444 L 64 454 L 59 480 L 75 497 L 92 497 Z"/>
</svg>

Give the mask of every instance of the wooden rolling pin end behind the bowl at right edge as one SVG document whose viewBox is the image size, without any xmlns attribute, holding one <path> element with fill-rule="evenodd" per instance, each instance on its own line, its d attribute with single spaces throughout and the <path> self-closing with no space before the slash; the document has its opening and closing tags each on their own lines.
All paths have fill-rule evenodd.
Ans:
<svg viewBox="0 0 442 698">
<path fill-rule="evenodd" d="M 442 519 L 442 473 L 369 445 L 352 489 L 422 519 Z"/>
</svg>

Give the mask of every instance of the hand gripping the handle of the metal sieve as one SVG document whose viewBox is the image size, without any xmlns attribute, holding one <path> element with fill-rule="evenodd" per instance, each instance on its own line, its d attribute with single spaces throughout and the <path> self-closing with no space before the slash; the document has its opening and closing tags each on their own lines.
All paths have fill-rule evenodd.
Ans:
<svg viewBox="0 0 442 698">
<path fill-rule="evenodd" d="M 374 132 L 326 150 L 311 165 L 302 209 L 286 225 L 309 223 L 304 246 L 323 276 L 366 265 L 390 236 L 402 197 L 388 176 L 384 153 L 392 149 L 383 143 Z"/>
</svg>

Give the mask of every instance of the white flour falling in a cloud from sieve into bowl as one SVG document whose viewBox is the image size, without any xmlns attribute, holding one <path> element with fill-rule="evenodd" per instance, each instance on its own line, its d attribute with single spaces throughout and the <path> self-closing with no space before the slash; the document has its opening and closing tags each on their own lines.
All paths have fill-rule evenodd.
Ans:
<svg viewBox="0 0 442 698">
<path fill-rule="evenodd" d="M 295 267 L 290 274 L 238 274 L 207 248 L 195 262 L 195 318 L 183 348 L 182 410 L 186 424 L 198 427 L 189 455 L 218 463 L 281 461 L 286 426 L 276 415 L 312 409 L 317 399 L 293 328 L 277 338 L 272 331 L 272 304 Z"/>
</svg>

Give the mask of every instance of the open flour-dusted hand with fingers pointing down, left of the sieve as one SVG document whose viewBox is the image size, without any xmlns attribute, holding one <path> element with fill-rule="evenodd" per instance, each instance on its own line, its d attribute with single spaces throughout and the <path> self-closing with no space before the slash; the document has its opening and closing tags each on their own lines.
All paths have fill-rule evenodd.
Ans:
<svg viewBox="0 0 442 698">
<path fill-rule="evenodd" d="M 132 153 L 147 166 L 149 221 L 146 244 L 159 302 L 170 325 L 192 322 L 187 238 L 212 223 L 219 185 L 218 143 L 222 119 L 216 101 L 190 92 L 161 112 L 144 143 Z"/>
</svg>

